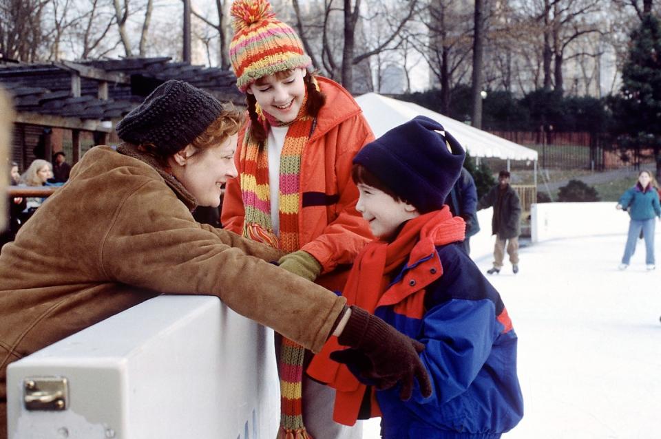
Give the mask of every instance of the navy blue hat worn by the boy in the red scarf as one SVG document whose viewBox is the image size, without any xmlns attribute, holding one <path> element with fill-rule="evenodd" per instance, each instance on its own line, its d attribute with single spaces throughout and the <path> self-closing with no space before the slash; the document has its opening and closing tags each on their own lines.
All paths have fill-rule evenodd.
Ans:
<svg viewBox="0 0 661 439">
<path fill-rule="evenodd" d="M 420 213 L 428 213 L 443 206 L 464 158 L 465 151 L 443 125 L 417 116 L 366 144 L 353 163 L 361 164 Z"/>
</svg>

